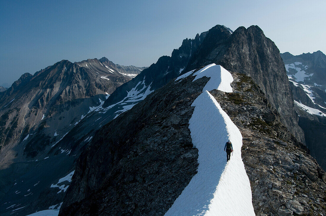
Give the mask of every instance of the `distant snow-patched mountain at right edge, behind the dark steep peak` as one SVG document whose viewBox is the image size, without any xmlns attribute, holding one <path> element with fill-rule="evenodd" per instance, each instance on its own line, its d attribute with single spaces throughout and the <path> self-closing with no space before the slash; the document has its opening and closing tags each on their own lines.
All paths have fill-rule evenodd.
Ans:
<svg viewBox="0 0 326 216">
<path fill-rule="evenodd" d="M 299 126 L 311 155 L 326 169 L 326 56 L 321 51 L 281 53 L 290 81 Z"/>
</svg>

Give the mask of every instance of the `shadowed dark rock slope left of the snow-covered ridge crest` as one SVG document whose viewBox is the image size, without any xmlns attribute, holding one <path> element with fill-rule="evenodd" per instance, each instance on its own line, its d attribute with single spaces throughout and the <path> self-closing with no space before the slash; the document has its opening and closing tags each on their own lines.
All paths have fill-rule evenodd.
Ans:
<svg viewBox="0 0 326 216">
<path fill-rule="evenodd" d="M 208 78 L 192 80 L 170 82 L 96 133 L 61 215 L 162 215 L 170 208 L 198 166 L 188 121 Z"/>
</svg>

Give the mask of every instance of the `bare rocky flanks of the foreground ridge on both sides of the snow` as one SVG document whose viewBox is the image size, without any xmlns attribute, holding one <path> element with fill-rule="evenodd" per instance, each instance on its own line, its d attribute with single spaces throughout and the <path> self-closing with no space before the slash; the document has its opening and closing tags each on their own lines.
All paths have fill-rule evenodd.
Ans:
<svg viewBox="0 0 326 216">
<path fill-rule="evenodd" d="M 256 215 L 325 213 L 325 200 L 311 198 L 326 196 L 323 170 L 259 87 L 243 74 L 233 77 L 232 93 L 210 93 L 244 137 Z M 96 133 L 78 159 L 59 215 L 163 215 L 170 208 L 196 174 L 188 121 L 208 78 L 192 80 L 156 90 Z"/>
</svg>

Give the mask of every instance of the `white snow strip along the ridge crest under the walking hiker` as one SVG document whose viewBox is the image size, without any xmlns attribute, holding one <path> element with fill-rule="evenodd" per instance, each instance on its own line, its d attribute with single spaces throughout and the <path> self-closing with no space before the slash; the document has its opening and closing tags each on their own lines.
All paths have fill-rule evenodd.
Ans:
<svg viewBox="0 0 326 216">
<path fill-rule="evenodd" d="M 213 89 L 232 92 L 232 75 L 222 66 L 211 64 L 193 76 L 194 80 L 211 77 L 204 92 L 193 102 L 195 109 L 189 120 L 192 142 L 198 148 L 198 172 L 165 215 L 255 215 L 250 182 L 241 158 L 242 135 L 208 92 Z M 227 163 L 224 145 L 228 139 L 234 153 Z"/>
</svg>

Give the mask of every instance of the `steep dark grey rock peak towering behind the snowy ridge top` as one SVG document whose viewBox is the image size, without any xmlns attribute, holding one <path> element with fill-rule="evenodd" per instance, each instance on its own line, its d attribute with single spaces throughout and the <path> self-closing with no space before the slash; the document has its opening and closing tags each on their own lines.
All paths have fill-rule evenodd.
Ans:
<svg viewBox="0 0 326 216">
<path fill-rule="evenodd" d="M 273 108 L 281 114 L 281 121 L 301 142 L 302 129 L 297 124 L 293 97 L 279 50 L 258 26 L 239 27 L 232 34 L 223 26 L 215 26 L 207 33 L 198 54 L 190 59 L 185 71 L 215 63 L 231 72 L 251 76 L 266 94 Z"/>
</svg>

